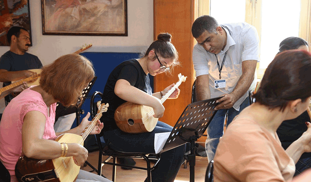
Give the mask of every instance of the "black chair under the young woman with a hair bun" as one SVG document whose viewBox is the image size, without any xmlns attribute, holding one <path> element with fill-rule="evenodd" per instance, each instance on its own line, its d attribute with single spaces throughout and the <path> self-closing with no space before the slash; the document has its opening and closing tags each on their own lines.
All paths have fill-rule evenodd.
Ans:
<svg viewBox="0 0 311 182">
<path fill-rule="evenodd" d="M 103 97 L 103 94 L 101 92 L 94 92 L 94 94 L 91 97 L 91 103 L 90 103 L 90 111 L 92 118 L 97 114 L 97 107 L 96 103 L 97 101 L 100 101 Z M 95 101 L 95 98 L 97 98 L 97 101 Z M 108 103 L 109 104 L 109 103 Z M 109 110 L 109 108 L 108 108 Z M 100 136 L 99 134 L 96 134 L 96 140 L 99 147 L 99 159 L 98 159 L 98 175 L 102 175 L 102 167 L 103 165 L 113 165 L 112 168 L 112 181 L 116 181 L 116 169 L 117 166 L 122 167 L 129 167 L 129 168 L 135 168 L 135 169 L 141 169 L 147 171 L 147 181 L 151 182 L 151 170 L 155 168 L 157 163 L 160 160 L 159 155 L 157 156 L 148 156 L 147 153 L 127 153 L 127 152 L 121 152 L 113 150 L 109 147 L 109 143 L 105 143 L 104 137 Z M 108 156 L 107 159 L 103 161 L 103 156 Z M 138 166 L 132 166 L 132 165 L 123 165 L 123 164 L 117 164 L 117 158 L 139 158 L 144 159 L 146 161 L 147 166 L 146 167 L 138 167 Z M 113 162 L 110 163 L 109 161 L 113 159 Z M 153 167 L 150 165 L 150 160 L 156 160 L 156 163 Z"/>
</svg>

